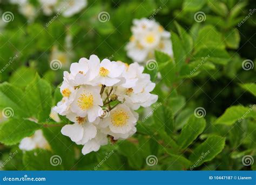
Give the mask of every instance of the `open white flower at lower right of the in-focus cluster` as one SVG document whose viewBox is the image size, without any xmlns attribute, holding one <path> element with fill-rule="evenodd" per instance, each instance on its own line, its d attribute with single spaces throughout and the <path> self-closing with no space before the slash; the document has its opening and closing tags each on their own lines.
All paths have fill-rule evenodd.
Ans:
<svg viewBox="0 0 256 185">
<path fill-rule="evenodd" d="M 137 114 L 132 112 L 129 107 L 123 104 L 117 105 L 110 111 L 110 115 L 102 120 L 99 125 L 103 128 L 109 127 L 110 135 L 114 138 L 124 138 L 135 128 L 137 122 Z"/>
</svg>

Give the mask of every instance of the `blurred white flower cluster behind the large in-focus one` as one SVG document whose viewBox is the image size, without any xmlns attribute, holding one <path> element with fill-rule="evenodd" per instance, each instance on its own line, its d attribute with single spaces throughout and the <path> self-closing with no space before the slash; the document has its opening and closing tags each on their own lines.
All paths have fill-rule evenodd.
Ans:
<svg viewBox="0 0 256 185">
<path fill-rule="evenodd" d="M 155 20 L 134 19 L 132 36 L 126 45 L 127 56 L 138 63 L 154 59 L 154 50 L 173 55 L 171 33 Z"/>
</svg>

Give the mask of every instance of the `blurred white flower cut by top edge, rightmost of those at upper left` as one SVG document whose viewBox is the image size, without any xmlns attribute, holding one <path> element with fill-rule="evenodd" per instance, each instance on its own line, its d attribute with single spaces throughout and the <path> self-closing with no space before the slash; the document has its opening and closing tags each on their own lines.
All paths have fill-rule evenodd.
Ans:
<svg viewBox="0 0 256 185">
<path fill-rule="evenodd" d="M 57 6 L 57 11 L 64 9 L 62 15 L 64 17 L 71 17 L 83 10 L 87 5 L 86 0 L 69 0 L 69 1 L 60 1 Z"/>
</svg>

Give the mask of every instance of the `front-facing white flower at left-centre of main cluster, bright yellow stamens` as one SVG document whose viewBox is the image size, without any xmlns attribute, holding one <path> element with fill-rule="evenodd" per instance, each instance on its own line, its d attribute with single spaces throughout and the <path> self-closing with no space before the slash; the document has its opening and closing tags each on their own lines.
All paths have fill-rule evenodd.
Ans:
<svg viewBox="0 0 256 185">
<path fill-rule="evenodd" d="M 103 106 L 102 98 L 100 97 L 100 87 L 83 86 L 76 90 L 75 100 L 71 104 L 71 111 L 79 117 L 86 117 L 90 122 L 95 121 L 99 117 L 99 112 Z"/>
</svg>

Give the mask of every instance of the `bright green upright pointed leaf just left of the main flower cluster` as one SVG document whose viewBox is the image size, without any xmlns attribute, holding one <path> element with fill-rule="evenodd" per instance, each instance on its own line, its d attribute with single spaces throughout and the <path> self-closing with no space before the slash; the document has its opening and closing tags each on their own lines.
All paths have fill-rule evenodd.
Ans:
<svg viewBox="0 0 256 185">
<path fill-rule="evenodd" d="M 26 87 L 25 101 L 29 112 L 42 122 L 49 118 L 52 106 L 51 86 L 36 74 L 35 79 Z"/>
</svg>

